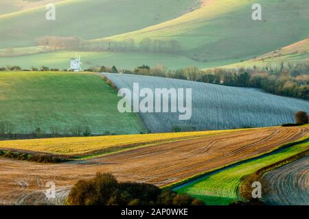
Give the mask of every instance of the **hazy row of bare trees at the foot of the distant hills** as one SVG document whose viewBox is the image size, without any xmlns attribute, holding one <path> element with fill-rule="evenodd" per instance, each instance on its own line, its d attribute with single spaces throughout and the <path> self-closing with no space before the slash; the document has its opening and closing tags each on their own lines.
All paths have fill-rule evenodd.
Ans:
<svg viewBox="0 0 309 219">
<path fill-rule="evenodd" d="M 80 51 L 115 51 L 146 53 L 177 53 L 181 44 L 177 40 L 158 40 L 144 38 L 135 42 L 133 38 L 124 40 L 83 40 L 77 37 L 45 36 L 36 39 L 36 45 L 56 49 Z"/>
</svg>

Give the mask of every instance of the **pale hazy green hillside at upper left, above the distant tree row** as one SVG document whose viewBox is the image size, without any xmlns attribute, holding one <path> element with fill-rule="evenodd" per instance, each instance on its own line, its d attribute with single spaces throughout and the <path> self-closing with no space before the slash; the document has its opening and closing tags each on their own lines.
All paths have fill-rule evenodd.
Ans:
<svg viewBox="0 0 309 219">
<path fill-rule="evenodd" d="M 189 0 L 68 0 L 56 3 L 56 21 L 44 6 L 0 16 L 0 48 L 29 47 L 42 36 L 113 36 L 155 25 L 198 6 Z"/>
</svg>

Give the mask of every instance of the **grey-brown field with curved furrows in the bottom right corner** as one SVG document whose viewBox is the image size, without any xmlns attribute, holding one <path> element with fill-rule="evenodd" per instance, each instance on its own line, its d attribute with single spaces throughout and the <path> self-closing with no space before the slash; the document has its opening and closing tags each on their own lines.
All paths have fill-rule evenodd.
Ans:
<svg viewBox="0 0 309 219">
<path fill-rule="evenodd" d="M 309 205 L 309 156 L 271 170 L 263 177 L 270 205 Z"/>
</svg>

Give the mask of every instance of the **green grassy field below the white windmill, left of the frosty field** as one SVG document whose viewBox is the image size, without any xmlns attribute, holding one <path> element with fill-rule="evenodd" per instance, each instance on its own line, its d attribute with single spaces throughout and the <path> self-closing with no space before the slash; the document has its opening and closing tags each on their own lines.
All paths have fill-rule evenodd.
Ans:
<svg viewBox="0 0 309 219">
<path fill-rule="evenodd" d="M 0 121 L 14 124 L 14 133 L 32 133 L 41 127 L 88 125 L 92 133 L 146 131 L 135 114 L 117 111 L 116 92 L 91 73 L 0 73 Z"/>
</svg>

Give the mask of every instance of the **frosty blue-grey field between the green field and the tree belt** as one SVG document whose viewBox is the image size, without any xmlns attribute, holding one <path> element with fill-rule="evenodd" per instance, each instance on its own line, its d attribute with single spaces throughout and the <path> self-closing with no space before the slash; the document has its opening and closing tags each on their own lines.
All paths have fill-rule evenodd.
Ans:
<svg viewBox="0 0 309 219">
<path fill-rule="evenodd" d="M 102 73 L 117 88 L 129 88 L 139 83 L 139 89 L 192 88 L 192 118 L 179 120 L 179 113 L 140 113 L 146 127 L 152 132 L 172 131 L 175 126 L 182 131 L 206 129 L 235 129 L 242 127 L 267 127 L 294 123 L 297 111 L 309 113 L 309 101 L 266 94 L 251 88 L 218 86 L 209 83 Z"/>
</svg>

